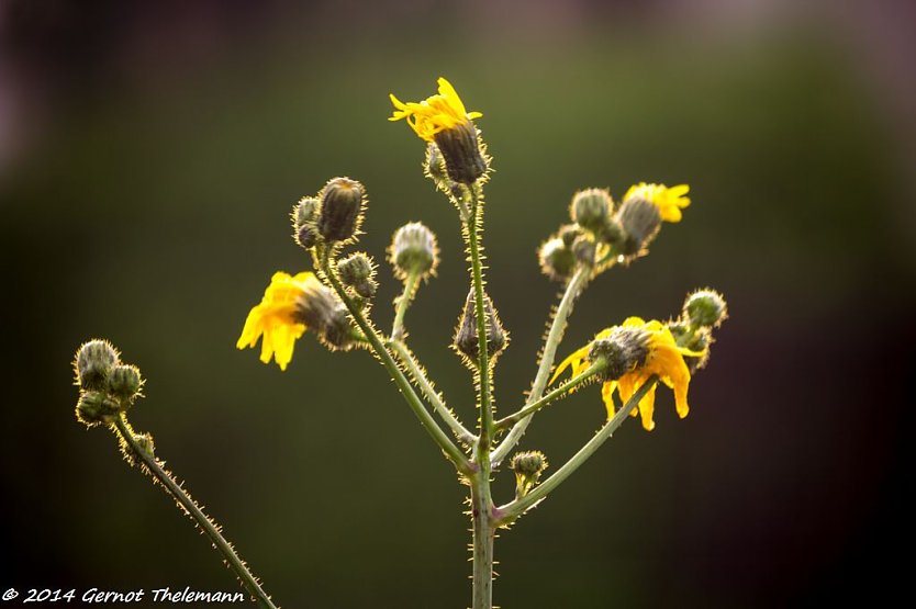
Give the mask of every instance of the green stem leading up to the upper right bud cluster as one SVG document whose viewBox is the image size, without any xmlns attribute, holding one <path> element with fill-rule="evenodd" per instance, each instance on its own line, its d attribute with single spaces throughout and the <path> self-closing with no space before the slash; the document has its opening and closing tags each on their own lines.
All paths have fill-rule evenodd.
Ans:
<svg viewBox="0 0 916 609">
<path fill-rule="evenodd" d="M 567 322 L 569 320 L 569 315 L 572 313 L 572 305 L 589 283 L 591 272 L 592 269 L 590 267 L 579 267 L 566 286 L 560 304 L 557 306 L 557 311 L 554 314 L 554 322 L 550 324 L 550 330 L 547 332 L 547 340 L 544 343 L 544 350 L 540 353 L 540 363 L 538 364 L 537 375 L 532 384 L 532 391 L 528 394 L 528 399 L 526 402 L 528 405 L 535 404 L 544 395 L 544 388 L 547 386 L 547 381 L 550 379 L 550 370 L 554 368 L 554 358 L 557 354 L 557 347 L 563 339 Z M 499 466 L 510 451 L 515 448 L 515 444 L 517 444 L 518 440 L 522 439 L 522 436 L 525 435 L 525 429 L 527 429 L 530 420 L 532 415 L 521 419 L 509 431 L 505 439 L 500 442 L 500 446 L 496 447 L 490 459 L 493 467 Z"/>
</svg>

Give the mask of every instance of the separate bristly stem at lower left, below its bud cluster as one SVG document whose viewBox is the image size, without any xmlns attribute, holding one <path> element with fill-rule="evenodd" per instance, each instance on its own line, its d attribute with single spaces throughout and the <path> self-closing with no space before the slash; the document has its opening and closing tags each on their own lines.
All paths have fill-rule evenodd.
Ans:
<svg viewBox="0 0 916 609">
<path fill-rule="evenodd" d="M 166 492 L 171 495 L 176 501 L 178 501 L 185 511 L 188 512 L 188 516 L 190 516 L 194 522 L 197 522 L 198 527 L 206 533 L 206 537 L 210 538 L 213 546 L 216 548 L 216 550 L 219 550 L 225 559 L 228 567 L 232 568 L 238 576 L 238 579 L 242 582 L 242 585 L 245 586 L 245 589 L 247 589 L 248 593 L 257 599 L 258 606 L 266 609 L 277 609 L 277 607 L 270 601 L 270 597 L 260 587 L 257 577 L 248 571 L 245 562 L 238 556 L 238 553 L 232 544 L 226 541 L 220 532 L 220 529 L 213 523 L 213 520 L 211 520 L 210 517 L 208 517 L 203 510 L 198 507 L 188 492 L 181 488 L 172 475 L 163 469 L 159 461 L 141 448 L 136 438 L 134 438 L 133 430 L 131 429 L 131 426 L 123 413 L 114 420 L 114 426 L 118 433 L 130 448 L 131 452 L 137 459 L 143 461 L 143 464 L 146 466 L 149 474 L 166 487 Z"/>
</svg>

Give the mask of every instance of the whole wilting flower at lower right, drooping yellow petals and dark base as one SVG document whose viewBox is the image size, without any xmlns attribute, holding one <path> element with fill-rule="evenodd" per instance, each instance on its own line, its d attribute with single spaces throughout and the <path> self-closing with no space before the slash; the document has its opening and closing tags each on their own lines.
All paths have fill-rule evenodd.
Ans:
<svg viewBox="0 0 916 609">
<path fill-rule="evenodd" d="M 599 332 L 594 340 L 570 354 L 554 373 L 551 383 L 567 369 L 572 368 L 576 376 L 588 369 L 596 354 L 604 353 L 608 358 L 608 372 L 601 396 L 607 409 L 607 418 L 614 416 L 613 393 L 617 390 L 621 401 L 626 404 L 633 394 L 654 374 L 674 391 L 674 403 L 678 415 L 688 415 L 688 386 L 690 385 L 690 370 L 684 362 L 684 356 L 702 357 L 704 353 L 679 347 L 668 326 L 661 322 L 644 322 L 639 317 L 630 317 L 621 326 L 614 326 Z M 613 361 L 610 361 L 613 360 Z M 656 386 L 643 396 L 633 415 L 643 416 L 643 427 L 651 431 L 655 427 L 652 414 L 655 410 Z"/>
</svg>

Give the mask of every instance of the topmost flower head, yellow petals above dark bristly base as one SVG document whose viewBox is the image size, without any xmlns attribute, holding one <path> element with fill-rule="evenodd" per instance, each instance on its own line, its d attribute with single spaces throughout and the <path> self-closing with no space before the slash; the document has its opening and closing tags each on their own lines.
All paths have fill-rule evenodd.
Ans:
<svg viewBox="0 0 916 609">
<path fill-rule="evenodd" d="M 438 147 L 449 178 L 462 184 L 472 184 L 487 172 L 487 160 L 472 122 L 483 114 L 468 112 L 445 78 L 439 78 L 438 84 L 438 94 L 421 102 L 404 103 L 391 93 L 389 97 L 394 112 L 388 120 L 405 119 L 421 139 Z"/>
</svg>

